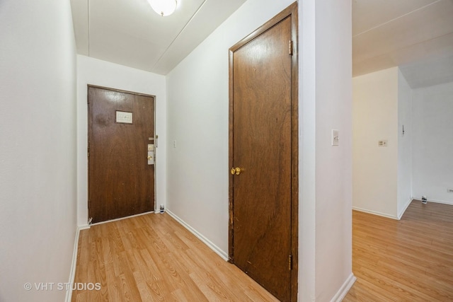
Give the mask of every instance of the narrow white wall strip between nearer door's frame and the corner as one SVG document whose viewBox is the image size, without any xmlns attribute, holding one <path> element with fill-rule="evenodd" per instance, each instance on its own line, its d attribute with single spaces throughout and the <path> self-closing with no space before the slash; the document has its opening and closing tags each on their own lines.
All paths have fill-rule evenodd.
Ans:
<svg viewBox="0 0 453 302">
<path fill-rule="evenodd" d="M 316 19 L 299 1 L 299 301 L 316 297 Z"/>
</svg>

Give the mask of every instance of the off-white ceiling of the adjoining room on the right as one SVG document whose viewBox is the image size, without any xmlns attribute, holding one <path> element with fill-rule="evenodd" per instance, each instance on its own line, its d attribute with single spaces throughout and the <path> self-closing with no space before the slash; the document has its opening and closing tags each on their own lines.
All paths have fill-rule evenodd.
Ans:
<svg viewBox="0 0 453 302">
<path fill-rule="evenodd" d="M 412 88 L 453 81 L 453 0 L 352 0 L 352 74 L 400 66 Z"/>
</svg>

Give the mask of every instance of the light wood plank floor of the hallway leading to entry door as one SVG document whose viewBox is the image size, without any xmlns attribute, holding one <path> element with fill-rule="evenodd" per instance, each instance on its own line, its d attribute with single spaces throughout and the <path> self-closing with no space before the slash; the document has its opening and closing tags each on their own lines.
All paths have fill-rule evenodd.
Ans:
<svg viewBox="0 0 453 302">
<path fill-rule="evenodd" d="M 101 289 L 71 301 L 277 301 L 168 214 L 82 230 L 74 282 Z"/>
</svg>

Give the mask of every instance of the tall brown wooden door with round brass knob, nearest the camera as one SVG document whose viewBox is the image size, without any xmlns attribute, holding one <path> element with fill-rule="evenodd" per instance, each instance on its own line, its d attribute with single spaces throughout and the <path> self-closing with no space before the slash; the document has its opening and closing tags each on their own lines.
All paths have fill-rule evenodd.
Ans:
<svg viewBox="0 0 453 302">
<path fill-rule="evenodd" d="M 297 238 L 293 23 L 277 17 L 230 52 L 230 257 L 280 301 L 290 301 Z"/>
</svg>

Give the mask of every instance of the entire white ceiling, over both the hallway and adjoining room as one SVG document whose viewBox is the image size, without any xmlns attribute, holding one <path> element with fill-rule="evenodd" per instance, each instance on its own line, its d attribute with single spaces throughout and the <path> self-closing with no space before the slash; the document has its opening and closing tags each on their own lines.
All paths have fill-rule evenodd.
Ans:
<svg viewBox="0 0 453 302">
<path fill-rule="evenodd" d="M 167 74 L 246 0 L 71 0 L 77 52 Z M 352 0 L 352 74 L 400 66 L 412 88 L 453 81 L 453 0 Z"/>
</svg>

